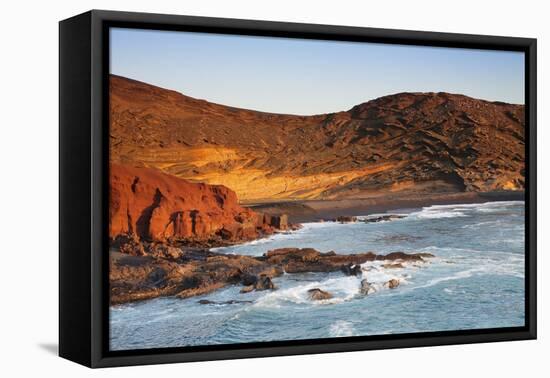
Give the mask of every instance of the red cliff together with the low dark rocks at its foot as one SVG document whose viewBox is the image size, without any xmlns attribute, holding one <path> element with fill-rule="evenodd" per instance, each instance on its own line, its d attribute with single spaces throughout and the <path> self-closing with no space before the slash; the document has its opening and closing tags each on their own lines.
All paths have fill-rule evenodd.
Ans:
<svg viewBox="0 0 550 378">
<path fill-rule="evenodd" d="M 399 264 L 431 256 L 403 252 L 339 255 L 312 248 L 275 249 L 259 257 L 215 253 L 210 248 L 290 232 L 299 225 L 289 223 L 285 214 L 270 215 L 241 206 L 236 194 L 222 185 L 193 183 L 152 168 L 111 164 L 109 198 L 112 304 L 159 296 L 189 298 L 228 285 L 241 285 L 241 293 L 275 290 L 272 279 L 283 273 L 338 271 L 362 277 L 360 265 L 367 261 Z M 340 216 L 333 221 L 348 223 L 357 218 Z M 311 293 L 312 300 L 328 297 L 330 293 Z"/>
</svg>

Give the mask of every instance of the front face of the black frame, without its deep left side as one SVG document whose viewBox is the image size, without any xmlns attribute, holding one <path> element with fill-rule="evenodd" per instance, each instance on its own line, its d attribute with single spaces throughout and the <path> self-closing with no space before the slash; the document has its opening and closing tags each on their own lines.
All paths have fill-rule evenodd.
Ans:
<svg viewBox="0 0 550 378">
<path fill-rule="evenodd" d="M 395 339 L 395 340 L 365 340 L 358 342 L 345 342 L 333 343 L 333 344 L 309 344 L 309 345 L 291 345 L 291 346 L 266 346 L 262 348 L 246 348 L 246 345 L 242 349 L 234 350 L 220 350 L 220 351 L 202 351 L 202 352 L 167 352 L 158 354 L 142 354 L 132 356 L 109 356 L 105 353 L 103 346 L 105 345 L 104 334 L 102 333 L 102 327 L 106 326 L 101 321 L 101 314 L 104 308 L 102 300 L 102 294 L 104 287 L 99 280 L 104 277 L 104 261 L 101 257 L 92 256 L 92 357 L 90 365 L 91 367 L 112 367 L 121 365 L 143 365 L 143 364 L 160 364 L 160 363 L 174 363 L 174 362 L 192 362 L 192 361 L 206 361 L 206 360 L 223 360 L 223 359 L 238 359 L 238 358 L 256 358 L 256 357 L 270 357 L 270 356 L 284 356 L 284 355 L 302 355 L 302 354 L 316 354 L 316 353 L 333 353 L 333 352 L 346 352 L 346 351 L 362 351 L 372 349 L 390 349 L 390 348 L 409 348 L 409 347 L 426 347 L 426 346 L 443 346 L 453 344 L 471 344 L 471 343 L 484 343 L 484 342 L 498 342 L 498 341 L 515 341 L 515 340 L 531 340 L 536 339 L 536 39 L 533 38 L 516 38 L 516 37 L 496 37 L 496 36 L 484 36 L 484 35 L 471 35 L 471 34 L 454 34 L 454 33 L 433 33 L 433 32 L 418 32 L 407 30 L 386 30 L 386 29 L 372 29 L 372 28 L 360 28 L 350 26 L 331 26 L 331 25 L 313 25 L 313 24 L 298 24 L 298 23 L 285 23 L 285 22 L 270 22 L 270 21 L 252 21 L 252 20 L 235 20 L 235 19 L 223 19 L 223 18 L 205 18 L 195 16 L 176 16 L 176 15 L 160 15 L 160 14 L 145 14 L 145 13 L 127 13 L 127 12 L 113 12 L 94 10 L 91 11 L 92 15 L 92 41 L 93 41 L 93 56 L 91 58 L 92 72 L 93 72 L 93 90 L 92 90 L 92 112 L 94 114 L 93 127 L 96 130 L 96 134 L 93 137 L 93 177 L 105 178 L 104 171 L 105 162 L 100 162 L 98 156 L 101 155 L 101 151 L 105 151 L 105 145 L 97 137 L 101 135 L 101 132 L 105 130 L 105 124 L 103 115 L 98 113 L 98 110 L 102 112 L 104 109 L 102 104 L 105 100 L 105 81 L 102 81 L 101 77 L 97 77 L 105 69 L 104 56 L 98 56 L 98 52 L 102 50 L 102 41 L 104 41 L 104 35 L 102 27 L 106 22 L 127 22 L 144 25 L 164 25 L 166 27 L 177 26 L 199 26 L 204 28 L 222 27 L 226 30 L 233 30 L 236 34 L 244 31 L 259 31 L 262 35 L 274 31 L 280 33 L 306 33 L 311 38 L 321 38 L 322 36 L 336 36 L 342 40 L 349 39 L 353 36 L 360 36 L 361 38 L 382 38 L 393 40 L 394 42 L 385 43 L 398 43 L 397 41 L 405 41 L 410 44 L 418 44 L 419 41 L 426 45 L 431 46 L 453 46 L 464 47 L 473 46 L 472 48 L 490 48 L 495 49 L 509 49 L 516 51 L 524 51 L 530 57 L 530 64 L 528 69 L 529 76 L 526 76 L 526 82 L 529 84 L 529 172 L 530 183 L 529 188 L 529 219 L 530 219 L 530 232 L 526 237 L 529 238 L 530 243 L 530 261 L 529 261 L 529 279 L 527 284 L 529 285 L 529 298 L 528 300 L 530 316 L 528 319 L 528 328 L 510 331 L 510 332 L 495 332 L 486 333 L 480 335 L 454 335 L 454 336 L 433 336 L 422 337 L 419 334 L 417 338 L 407 339 Z M 145 26 L 144 26 L 145 27 Z M 386 36 L 386 37 L 384 37 Z M 389 36 L 389 37 L 388 37 Z M 478 47 L 475 47 L 478 46 Z M 102 122 L 103 121 L 103 122 Z M 98 132 L 99 131 L 99 132 Z M 101 168 L 103 167 L 103 168 Z M 101 181 L 103 182 L 103 181 Z M 101 184 L 99 184 L 101 186 Z M 93 189 L 98 190 L 98 182 L 92 183 Z M 102 191 L 98 193 L 103 193 Z M 102 202 L 103 201 L 103 202 Z M 101 209 L 102 203 L 104 203 L 104 195 L 96 196 L 96 200 L 93 203 L 93 212 L 96 216 L 92 230 L 98 230 L 100 227 L 98 222 L 98 214 L 102 214 L 104 209 Z M 100 234 L 92 231 L 93 240 L 97 242 L 100 238 Z M 98 236 L 99 235 L 99 236 Z M 101 243 L 95 243 L 95 247 L 92 251 L 98 251 L 98 246 Z M 101 250 L 99 250 L 101 252 Z M 101 255 L 101 254 L 100 254 Z M 96 274 L 99 272 L 100 274 Z M 99 301 L 99 302 L 98 302 Z M 98 303 L 99 306 L 98 306 Z M 527 320 L 527 319 L 526 319 Z"/>
</svg>

